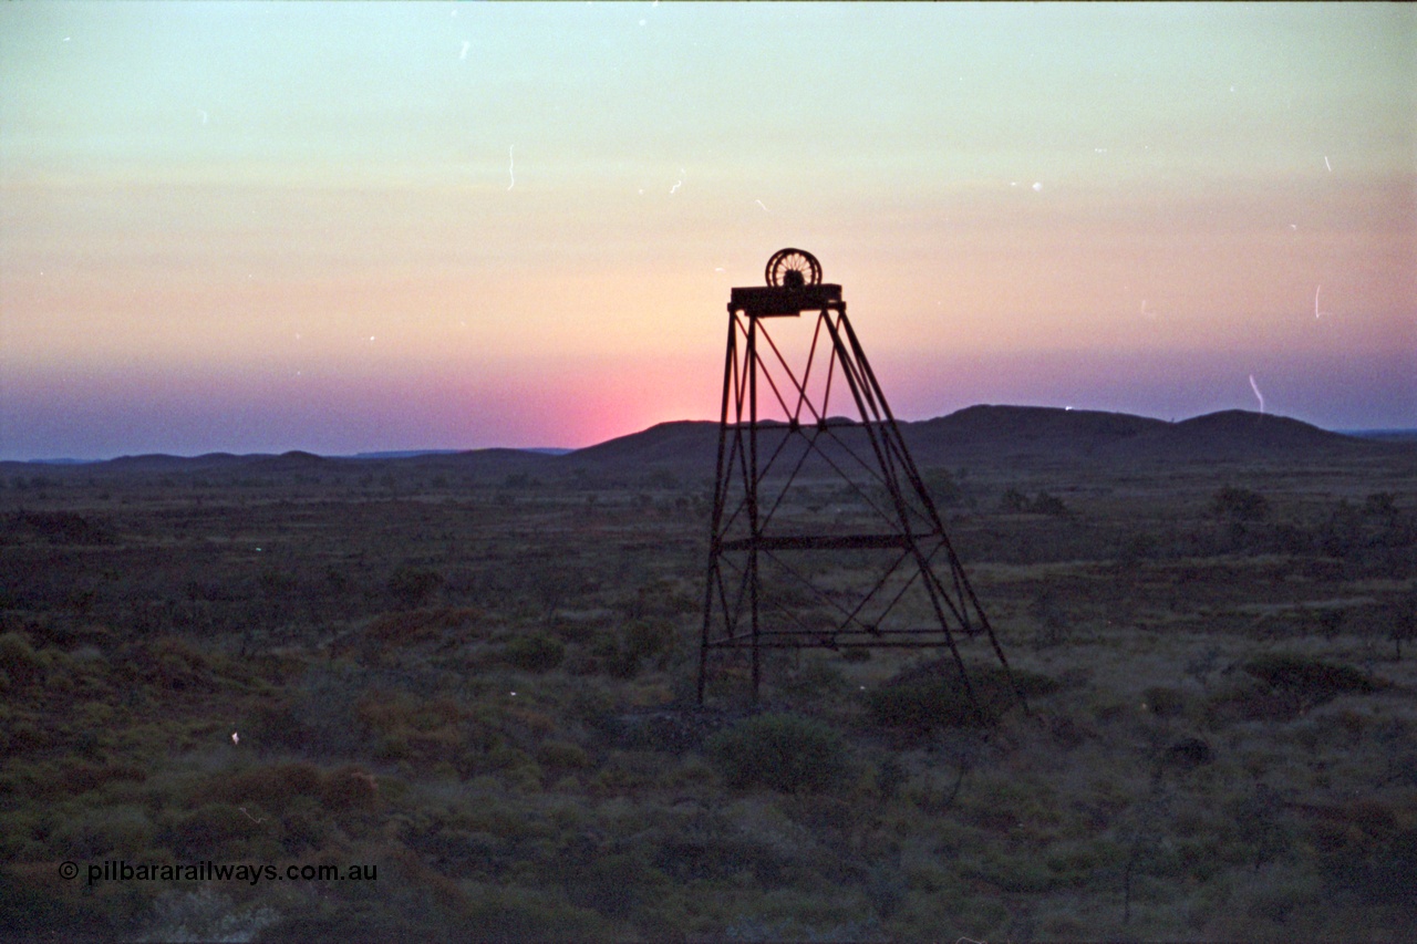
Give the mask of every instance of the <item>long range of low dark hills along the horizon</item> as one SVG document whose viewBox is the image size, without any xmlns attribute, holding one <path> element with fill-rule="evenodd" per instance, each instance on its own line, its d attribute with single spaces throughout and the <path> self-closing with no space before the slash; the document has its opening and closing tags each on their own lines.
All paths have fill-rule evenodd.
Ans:
<svg viewBox="0 0 1417 944">
<path fill-rule="evenodd" d="M 830 421 L 829 421 L 830 422 Z M 1182 422 L 1095 410 L 1053 407 L 976 405 L 947 417 L 901 422 L 911 455 L 921 468 L 959 465 L 1049 466 L 1057 463 L 1176 463 L 1263 462 L 1411 455 L 1417 441 L 1390 437 L 1355 437 L 1319 429 L 1306 422 L 1226 410 Z M 768 425 L 760 439 L 760 459 L 767 463 L 782 439 L 781 424 Z M 819 437 L 828 459 L 808 456 L 818 471 L 830 462 L 852 462 L 852 454 L 869 456 L 870 446 L 859 428 L 836 428 Z M 317 456 L 309 452 L 282 455 L 231 455 L 213 452 L 193 458 L 170 455 L 122 456 L 82 465 L 0 462 L 0 473 L 173 473 L 198 471 L 359 472 L 384 463 L 400 468 L 448 472 L 476 479 L 536 476 L 557 479 L 591 476 L 592 481 L 639 481 L 655 471 L 680 479 L 711 478 L 718 454 L 718 424 L 713 421 L 662 422 L 575 451 L 472 449 L 411 454 Z M 791 468 L 801 451 L 777 455 L 775 469 Z"/>
</svg>

